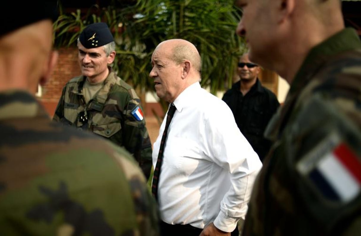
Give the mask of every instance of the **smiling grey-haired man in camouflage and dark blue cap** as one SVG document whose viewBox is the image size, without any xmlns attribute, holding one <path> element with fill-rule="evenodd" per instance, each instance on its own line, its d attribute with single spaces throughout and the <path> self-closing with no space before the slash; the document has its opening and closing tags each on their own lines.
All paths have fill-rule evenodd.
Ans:
<svg viewBox="0 0 361 236">
<path fill-rule="evenodd" d="M 63 88 L 53 120 L 91 131 L 125 147 L 148 179 L 152 144 L 143 109 L 134 89 L 109 66 L 116 52 L 106 23 L 88 25 L 78 38 L 78 49 L 82 75 Z"/>
</svg>

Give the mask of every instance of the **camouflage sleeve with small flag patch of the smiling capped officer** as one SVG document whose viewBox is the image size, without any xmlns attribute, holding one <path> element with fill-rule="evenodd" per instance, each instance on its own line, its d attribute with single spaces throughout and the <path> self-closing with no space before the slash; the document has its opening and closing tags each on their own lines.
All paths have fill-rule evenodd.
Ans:
<svg viewBox="0 0 361 236">
<path fill-rule="evenodd" d="M 152 144 L 149 138 L 145 117 L 140 99 L 134 89 L 129 89 L 130 100 L 124 110 L 125 121 L 123 127 L 124 147 L 134 155 L 148 179 L 152 169 Z"/>
</svg>

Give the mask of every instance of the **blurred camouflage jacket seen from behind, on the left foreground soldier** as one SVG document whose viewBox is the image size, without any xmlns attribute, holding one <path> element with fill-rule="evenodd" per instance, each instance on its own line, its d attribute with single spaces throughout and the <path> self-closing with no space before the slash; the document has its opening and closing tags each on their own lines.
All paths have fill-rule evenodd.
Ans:
<svg viewBox="0 0 361 236">
<path fill-rule="evenodd" d="M 0 93 L 0 235 L 158 235 L 134 158 L 52 122 L 29 93 Z"/>
</svg>

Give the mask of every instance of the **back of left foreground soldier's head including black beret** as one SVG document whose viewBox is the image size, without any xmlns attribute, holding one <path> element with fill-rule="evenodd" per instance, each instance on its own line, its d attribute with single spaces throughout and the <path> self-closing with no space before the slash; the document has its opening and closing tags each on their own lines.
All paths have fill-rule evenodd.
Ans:
<svg viewBox="0 0 361 236">
<path fill-rule="evenodd" d="M 58 16 L 57 1 L 3 1 L 1 9 L 16 12 L 0 15 L 0 90 L 35 93 L 56 64 L 53 22 Z"/>
</svg>

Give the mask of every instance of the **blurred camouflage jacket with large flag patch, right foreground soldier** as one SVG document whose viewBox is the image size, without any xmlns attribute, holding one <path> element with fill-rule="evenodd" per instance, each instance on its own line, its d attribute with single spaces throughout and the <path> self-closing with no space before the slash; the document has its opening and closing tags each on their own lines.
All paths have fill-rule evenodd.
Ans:
<svg viewBox="0 0 361 236">
<path fill-rule="evenodd" d="M 243 236 L 361 232 L 361 43 L 344 29 L 314 47 L 266 135 Z"/>
</svg>

